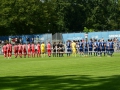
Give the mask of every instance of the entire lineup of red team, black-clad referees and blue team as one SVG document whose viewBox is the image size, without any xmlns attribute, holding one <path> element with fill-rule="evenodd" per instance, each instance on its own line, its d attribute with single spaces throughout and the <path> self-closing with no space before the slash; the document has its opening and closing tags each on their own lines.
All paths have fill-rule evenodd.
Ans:
<svg viewBox="0 0 120 90">
<path fill-rule="evenodd" d="M 88 41 L 82 41 L 79 42 L 70 41 L 68 40 L 66 42 L 66 45 L 62 44 L 61 42 L 56 43 L 54 42 L 53 45 L 48 42 L 46 45 L 44 42 L 40 44 L 38 42 L 37 44 L 15 44 L 12 46 L 10 43 L 5 44 L 2 47 L 2 52 L 4 54 L 5 58 L 11 58 L 12 53 L 14 52 L 15 58 L 20 56 L 26 57 L 45 57 L 45 54 L 47 53 L 50 57 L 51 54 L 53 54 L 53 57 L 63 57 L 63 54 L 66 53 L 69 57 L 71 54 L 76 57 L 76 54 L 79 53 L 81 56 L 92 56 L 92 53 L 94 53 L 94 56 L 102 56 L 102 53 L 105 55 L 112 56 L 114 52 L 114 42 L 112 40 L 108 40 L 107 42 L 104 42 L 104 40 L 90 40 Z"/>
</svg>

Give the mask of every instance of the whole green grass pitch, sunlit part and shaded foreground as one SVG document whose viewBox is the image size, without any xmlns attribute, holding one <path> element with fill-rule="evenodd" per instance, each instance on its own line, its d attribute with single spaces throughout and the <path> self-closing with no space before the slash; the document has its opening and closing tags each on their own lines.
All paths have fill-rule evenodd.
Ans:
<svg viewBox="0 0 120 90">
<path fill-rule="evenodd" d="M 0 55 L 0 90 L 120 90 L 120 53 L 25 59 Z"/>
</svg>

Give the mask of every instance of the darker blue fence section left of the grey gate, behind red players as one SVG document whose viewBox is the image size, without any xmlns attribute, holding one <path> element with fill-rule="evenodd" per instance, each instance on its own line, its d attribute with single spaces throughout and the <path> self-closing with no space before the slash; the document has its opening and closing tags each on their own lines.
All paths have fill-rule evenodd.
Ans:
<svg viewBox="0 0 120 90">
<path fill-rule="evenodd" d="M 2 41 L 9 41 L 11 43 L 20 42 L 20 43 L 27 43 L 27 42 L 52 42 L 52 34 L 35 34 L 35 35 L 16 35 L 16 36 L 0 36 L 0 40 Z"/>
</svg>

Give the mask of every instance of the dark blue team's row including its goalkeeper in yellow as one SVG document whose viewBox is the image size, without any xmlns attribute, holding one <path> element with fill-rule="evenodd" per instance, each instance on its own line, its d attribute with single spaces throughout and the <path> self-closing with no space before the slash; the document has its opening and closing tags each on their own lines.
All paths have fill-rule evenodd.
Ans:
<svg viewBox="0 0 120 90">
<path fill-rule="evenodd" d="M 92 53 L 94 53 L 94 56 L 102 56 L 102 53 L 105 55 L 112 56 L 114 52 L 114 42 L 113 40 L 108 39 L 107 42 L 104 40 L 92 40 L 88 42 L 86 41 L 78 41 L 77 43 L 75 41 L 67 41 L 67 52 L 71 52 L 74 56 L 76 56 L 76 50 L 79 51 L 80 55 L 85 56 L 92 56 Z M 69 53 L 67 54 L 69 56 Z"/>
</svg>

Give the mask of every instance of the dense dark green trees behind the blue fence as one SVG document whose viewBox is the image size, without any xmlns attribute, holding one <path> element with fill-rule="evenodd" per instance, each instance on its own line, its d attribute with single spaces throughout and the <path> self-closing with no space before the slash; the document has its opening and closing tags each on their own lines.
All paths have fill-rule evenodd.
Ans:
<svg viewBox="0 0 120 90">
<path fill-rule="evenodd" d="M 120 0 L 0 0 L 0 35 L 119 30 L 119 14 Z"/>
</svg>

